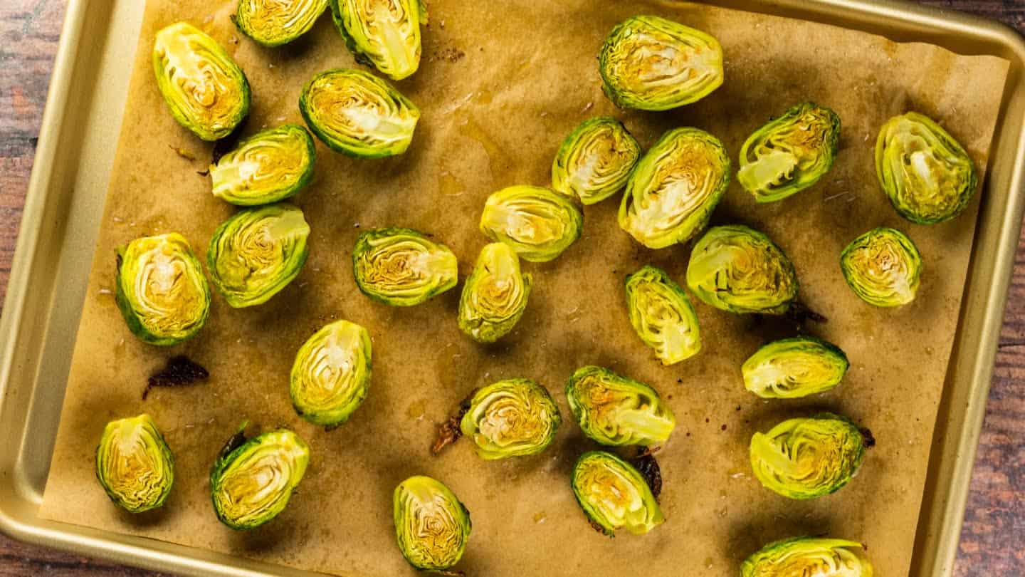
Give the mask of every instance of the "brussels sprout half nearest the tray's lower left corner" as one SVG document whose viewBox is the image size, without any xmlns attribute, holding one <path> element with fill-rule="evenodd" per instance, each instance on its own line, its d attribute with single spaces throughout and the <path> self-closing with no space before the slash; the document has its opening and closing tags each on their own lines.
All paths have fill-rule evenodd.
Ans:
<svg viewBox="0 0 1025 577">
<path fill-rule="evenodd" d="M 96 478 L 111 501 L 128 512 L 164 504 L 174 485 L 174 455 L 152 417 L 107 424 L 96 447 Z"/>
</svg>

